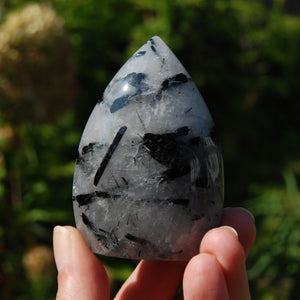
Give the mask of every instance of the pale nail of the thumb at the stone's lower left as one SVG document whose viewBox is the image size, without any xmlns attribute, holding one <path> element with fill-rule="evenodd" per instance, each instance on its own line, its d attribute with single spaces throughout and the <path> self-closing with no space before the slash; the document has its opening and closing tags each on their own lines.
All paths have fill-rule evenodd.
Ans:
<svg viewBox="0 0 300 300">
<path fill-rule="evenodd" d="M 62 226 L 55 226 L 53 231 L 53 248 L 56 268 L 60 272 L 70 259 L 71 237 L 68 229 Z"/>
</svg>

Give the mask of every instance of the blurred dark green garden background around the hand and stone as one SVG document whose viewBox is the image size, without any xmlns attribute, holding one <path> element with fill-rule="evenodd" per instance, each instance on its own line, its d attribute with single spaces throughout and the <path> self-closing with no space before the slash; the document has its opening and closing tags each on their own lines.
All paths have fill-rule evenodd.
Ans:
<svg viewBox="0 0 300 300">
<path fill-rule="evenodd" d="M 52 230 L 74 224 L 72 175 L 110 79 L 159 35 L 213 115 L 225 205 L 255 217 L 253 299 L 300 294 L 300 3 L 0 0 L 0 299 L 54 299 Z M 134 261 L 101 258 L 118 289 Z"/>
</svg>

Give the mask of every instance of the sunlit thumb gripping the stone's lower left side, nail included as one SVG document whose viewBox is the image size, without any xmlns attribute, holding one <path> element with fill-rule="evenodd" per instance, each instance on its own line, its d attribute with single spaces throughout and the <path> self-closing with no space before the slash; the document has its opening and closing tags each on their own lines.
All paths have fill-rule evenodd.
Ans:
<svg viewBox="0 0 300 300">
<path fill-rule="evenodd" d="M 56 226 L 53 247 L 58 269 L 56 300 L 109 299 L 105 269 L 77 229 Z"/>
</svg>

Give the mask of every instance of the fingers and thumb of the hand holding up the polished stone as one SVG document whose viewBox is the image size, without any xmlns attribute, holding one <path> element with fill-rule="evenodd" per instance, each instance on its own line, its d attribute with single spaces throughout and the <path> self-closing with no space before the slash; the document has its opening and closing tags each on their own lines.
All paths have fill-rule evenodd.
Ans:
<svg viewBox="0 0 300 300">
<path fill-rule="evenodd" d="M 142 260 L 115 299 L 171 300 L 181 283 L 184 300 L 251 299 L 245 261 L 255 233 L 248 211 L 226 208 L 221 227 L 206 233 L 198 255 L 188 262 Z M 58 269 L 56 300 L 109 299 L 106 271 L 77 229 L 55 227 L 53 245 Z"/>
</svg>

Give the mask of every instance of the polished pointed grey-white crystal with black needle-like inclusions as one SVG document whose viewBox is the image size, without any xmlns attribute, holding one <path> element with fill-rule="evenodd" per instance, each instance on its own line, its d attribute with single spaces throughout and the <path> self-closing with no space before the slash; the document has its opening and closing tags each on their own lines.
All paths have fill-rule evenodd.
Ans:
<svg viewBox="0 0 300 300">
<path fill-rule="evenodd" d="M 153 37 L 109 83 L 80 141 L 73 207 L 92 251 L 161 260 L 195 255 L 223 207 L 215 136 L 191 77 Z"/>
</svg>

